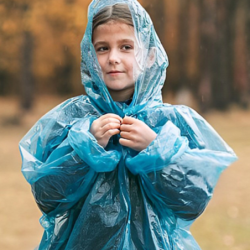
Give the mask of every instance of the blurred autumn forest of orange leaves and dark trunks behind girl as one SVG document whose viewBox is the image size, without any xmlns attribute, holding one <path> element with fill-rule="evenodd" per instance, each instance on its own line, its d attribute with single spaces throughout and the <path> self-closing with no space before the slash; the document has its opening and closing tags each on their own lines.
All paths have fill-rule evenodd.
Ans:
<svg viewBox="0 0 250 250">
<path fill-rule="evenodd" d="M 201 111 L 247 108 L 249 0 L 141 0 L 168 53 L 163 94 Z M 80 51 L 90 0 L 0 1 L 0 96 L 28 110 L 41 94 L 79 95 Z"/>
</svg>

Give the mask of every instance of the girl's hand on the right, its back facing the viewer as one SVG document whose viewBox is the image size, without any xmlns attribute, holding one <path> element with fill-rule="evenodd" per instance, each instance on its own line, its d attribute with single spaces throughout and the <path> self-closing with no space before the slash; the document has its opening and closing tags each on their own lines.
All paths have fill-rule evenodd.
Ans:
<svg viewBox="0 0 250 250">
<path fill-rule="evenodd" d="M 145 149 L 157 134 L 144 122 L 125 116 L 120 127 L 120 144 L 136 151 Z"/>
</svg>

